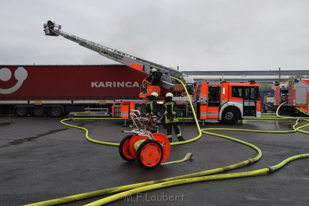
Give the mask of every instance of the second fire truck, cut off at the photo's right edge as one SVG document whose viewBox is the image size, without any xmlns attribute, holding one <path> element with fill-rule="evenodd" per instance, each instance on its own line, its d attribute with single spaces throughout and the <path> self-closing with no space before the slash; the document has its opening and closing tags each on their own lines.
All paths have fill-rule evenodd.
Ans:
<svg viewBox="0 0 309 206">
<path fill-rule="evenodd" d="M 290 79 L 275 81 L 274 106 L 280 106 L 291 116 L 298 116 L 300 112 L 308 112 L 309 79 Z"/>
</svg>

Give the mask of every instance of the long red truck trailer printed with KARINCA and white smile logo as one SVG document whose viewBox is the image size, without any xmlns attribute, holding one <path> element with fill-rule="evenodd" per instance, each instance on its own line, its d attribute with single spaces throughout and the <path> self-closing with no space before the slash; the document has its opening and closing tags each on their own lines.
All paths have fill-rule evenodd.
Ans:
<svg viewBox="0 0 309 206">
<path fill-rule="evenodd" d="M 110 113 L 113 100 L 138 98 L 146 77 L 125 65 L 0 65 L 0 114 Z"/>
</svg>

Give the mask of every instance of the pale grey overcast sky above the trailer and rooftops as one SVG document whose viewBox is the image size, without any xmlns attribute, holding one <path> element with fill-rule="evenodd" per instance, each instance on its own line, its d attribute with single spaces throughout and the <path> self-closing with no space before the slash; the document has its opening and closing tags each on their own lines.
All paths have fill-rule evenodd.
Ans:
<svg viewBox="0 0 309 206">
<path fill-rule="evenodd" d="M 61 31 L 181 71 L 309 69 L 307 0 L 0 0 L 0 64 L 115 64 Z"/>
</svg>

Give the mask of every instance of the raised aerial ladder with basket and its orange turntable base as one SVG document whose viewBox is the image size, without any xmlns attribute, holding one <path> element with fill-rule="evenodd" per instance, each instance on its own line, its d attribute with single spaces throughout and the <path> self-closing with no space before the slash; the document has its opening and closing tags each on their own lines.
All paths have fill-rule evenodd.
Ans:
<svg viewBox="0 0 309 206">
<path fill-rule="evenodd" d="M 92 51 L 95 51 L 104 57 L 129 66 L 133 69 L 137 69 L 146 74 L 150 74 L 152 69 L 157 69 L 156 75 L 159 76 L 159 80 L 154 83 L 154 85 L 145 86 L 147 89 L 145 88 L 145 90 L 140 93 L 141 98 L 150 96 L 152 92 L 157 92 L 159 96 L 162 97 L 165 96 L 167 92 L 181 93 L 184 90 L 182 84 L 174 79 L 177 78 L 185 83 L 184 74 L 177 69 L 171 67 L 168 68 L 163 65 L 159 65 L 151 61 L 117 51 L 116 49 L 108 48 L 92 41 L 82 39 L 69 33 L 62 32 L 60 31 L 61 25 L 55 24 L 52 21 L 44 23 L 43 27 L 45 35 L 47 36 L 63 36 L 64 38 L 74 41 L 83 47 L 91 49 Z"/>
</svg>

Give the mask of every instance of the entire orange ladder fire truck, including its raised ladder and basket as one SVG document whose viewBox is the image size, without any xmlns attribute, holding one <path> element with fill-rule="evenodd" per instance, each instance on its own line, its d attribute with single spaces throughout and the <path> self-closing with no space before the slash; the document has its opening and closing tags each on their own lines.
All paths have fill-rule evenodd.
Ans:
<svg viewBox="0 0 309 206">
<path fill-rule="evenodd" d="M 62 32 L 60 31 L 61 25 L 53 23 L 53 26 L 50 27 L 48 23 L 45 23 L 43 26 L 45 35 L 63 36 L 133 69 L 147 74 L 150 74 L 152 69 L 157 70 L 156 78 L 154 78 L 151 85 L 146 86 L 145 89 L 141 88 L 139 99 L 114 100 L 112 116 L 120 116 L 122 119 L 127 120 L 130 119 L 129 113 L 131 110 L 138 110 L 141 114 L 144 114 L 146 98 L 152 92 L 157 92 L 161 99 L 165 99 L 165 94 L 171 92 L 174 94 L 173 100 L 176 101 L 178 106 L 178 117 L 194 118 L 193 110 L 188 101 L 188 98 L 190 98 L 196 116 L 202 121 L 202 125 L 204 125 L 205 120 L 218 120 L 223 124 L 235 124 L 243 118 L 260 118 L 259 85 L 255 81 L 228 83 L 221 81 L 221 79 L 204 79 L 196 84 L 193 78 L 185 76 L 177 69 L 168 68 Z M 184 87 L 180 81 L 185 84 L 189 97 L 184 93 Z M 163 101 L 157 102 L 158 114 L 162 118 L 161 108 Z"/>
</svg>

